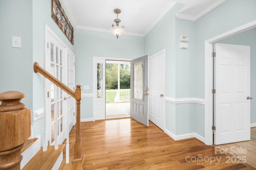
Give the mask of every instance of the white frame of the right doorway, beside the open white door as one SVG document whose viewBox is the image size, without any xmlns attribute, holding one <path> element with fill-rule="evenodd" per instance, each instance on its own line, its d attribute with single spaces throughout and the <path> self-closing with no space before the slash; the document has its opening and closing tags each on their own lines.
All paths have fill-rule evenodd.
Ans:
<svg viewBox="0 0 256 170">
<path fill-rule="evenodd" d="M 225 33 L 212 37 L 205 41 L 205 59 L 204 59 L 204 143 L 206 145 L 212 145 L 212 83 L 213 83 L 213 68 L 212 68 L 212 44 L 226 38 L 232 37 L 244 31 L 248 31 L 256 27 L 256 20 L 246 23 L 235 29 L 231 29 Z"/>
</svg>

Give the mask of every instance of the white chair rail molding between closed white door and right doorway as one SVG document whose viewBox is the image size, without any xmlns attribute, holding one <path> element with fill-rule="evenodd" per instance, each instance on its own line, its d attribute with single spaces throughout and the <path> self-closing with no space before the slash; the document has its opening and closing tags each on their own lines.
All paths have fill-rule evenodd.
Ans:
<svg viewBox="0 0 256 170">
<path fill-rule="evenodd" d="M 204 99 L 201 99 L 201 98 L 169 98 L 169 97 L 166 97 L 165 101 L 168 103 L 172 103 L 172 104 L 196 103 L 196 104 L 204 105 Z"/>
</svg>

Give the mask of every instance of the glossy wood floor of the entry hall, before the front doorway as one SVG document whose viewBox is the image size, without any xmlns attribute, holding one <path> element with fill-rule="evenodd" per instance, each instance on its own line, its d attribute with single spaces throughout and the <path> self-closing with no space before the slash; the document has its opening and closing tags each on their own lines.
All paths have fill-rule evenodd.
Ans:
<svg viewBox="0 0 256 170">
<path fill-rule="evenodd" d="M 196 139 L 173 141 L 152 122 L 149 127 L 130 118 L 82 122 L 81 132 L 84 170 L 254 169 L 248 164 L 226 163 L 230 154 L 215 154 L 214 147 Z M 74 126 L 70 156 L 74 155 L 75 133 Z"/>
</svg>

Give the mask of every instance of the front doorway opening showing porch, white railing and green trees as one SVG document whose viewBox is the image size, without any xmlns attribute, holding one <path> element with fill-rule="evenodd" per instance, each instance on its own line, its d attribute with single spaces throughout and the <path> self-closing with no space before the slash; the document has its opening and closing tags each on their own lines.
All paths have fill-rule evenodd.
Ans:
<svg viewBox="0 0 256 170">
<path fill-rule="evenodd" d="M 106 60 L 106 119 L 130 117 L 130 61 Z"/>
</svg>

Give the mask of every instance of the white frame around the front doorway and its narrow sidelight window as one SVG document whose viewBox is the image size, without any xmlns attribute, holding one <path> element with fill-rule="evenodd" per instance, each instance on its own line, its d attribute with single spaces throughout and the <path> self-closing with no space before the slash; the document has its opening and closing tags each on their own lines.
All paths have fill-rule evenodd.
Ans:
<svg viewBox="0 0 256 170">
<path fill-rule="evenodd" d="M 93 69 L 93 108 L 92 108 L 92 116 L 93 116 L 93 121 L 97 120 L 96 118 L 96 99 L 97 99 L 97 66 L 96 66 L 96 63 L 100 63 L 99 61 L 103 62 L 103 63 L 106 63 L 106 60 L 114 60 L 114 61 L 131 61 L 132 59 L 122 59 L 122 58 L 110 58 L 110 57 L 93 57 L 93 66 L 92 66 L 92 69 Z M 103 64 L 105 65 L 105 64 Z M 105 67 L 105 66 L 104 66 Z M 105 68 L 104 68 L 105 69 Z M 105 93 L 106 93 L 106 90 L 105 90 L 105 78 L 106 78 L 106 75 L 105 75 L 105 70 L 104 70 L 104 73 L 102 75 L 102 78 L 103 78 L 103 98 L 105 98 Z M 106 107 L 106 100 L 104 99 L 105 102 L 104 103 L 104 106 L 102 107 Z M 104 119 L 106 119 L 106 110 L 103 109 L 104 111 Z M 102 116 L 103 117 L 103 116 Z"/>
</svg>

